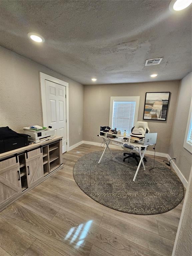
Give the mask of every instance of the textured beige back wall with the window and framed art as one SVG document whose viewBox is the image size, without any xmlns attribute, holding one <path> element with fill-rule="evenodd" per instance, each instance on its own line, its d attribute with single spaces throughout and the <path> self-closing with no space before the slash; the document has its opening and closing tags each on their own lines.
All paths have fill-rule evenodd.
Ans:
<svg viewBox="0 0 192 256">
<path fill-rule="evenodd" d="M 84 86 L 83 140 L 101 142 L 101 125 L 109 125 L 110 96 L 140 96 L 138 120 L 143 120 L 145 92 L 170 91 L 167 121 L 148 120 L 150 132 L 157 132 L 157 152 L 168 153 L 179 81 Z M 147 120 L 145 120 L 147 121 Z M 118 127 L 117 127 L 118 128 Z M 152 147 L 149 150 L 153 150 Z"/>
</svg>

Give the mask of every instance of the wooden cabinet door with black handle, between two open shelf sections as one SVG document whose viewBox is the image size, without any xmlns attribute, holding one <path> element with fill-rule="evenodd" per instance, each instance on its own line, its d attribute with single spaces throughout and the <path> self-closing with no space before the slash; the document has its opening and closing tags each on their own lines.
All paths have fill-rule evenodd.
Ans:
<svg viewBox="0 0 192 256">
<path fill-rule="evenodd" d="M 27 184 L 32 186 L 43 177 L 43 153 L 26 159 Z"/>
</svg>

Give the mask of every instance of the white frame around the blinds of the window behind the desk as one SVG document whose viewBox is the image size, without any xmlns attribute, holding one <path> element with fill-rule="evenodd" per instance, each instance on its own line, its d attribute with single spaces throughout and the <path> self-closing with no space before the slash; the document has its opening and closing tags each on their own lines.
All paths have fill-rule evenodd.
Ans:
<svg viewBox="0 0 192 256">
<path fill-rule="evenodd" d="M 133 126 L 138 121 L 138 113 L 139 113 L 139 100 L 140 96 L 111 96 L 110 97 L 110 111 L 109 111 L 109 127 L 112 128 L 112 120 L 113 120 L 113 102 L 114 101 L 135 101 L 135 114 Z M 118 127 L 117 127 L 118 128 Z"/>
</svg>

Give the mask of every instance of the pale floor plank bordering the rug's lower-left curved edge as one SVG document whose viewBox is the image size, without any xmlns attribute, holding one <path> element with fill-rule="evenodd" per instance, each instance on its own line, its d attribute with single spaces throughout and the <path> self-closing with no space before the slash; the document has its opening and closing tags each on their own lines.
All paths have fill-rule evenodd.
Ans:
<svg viewBox="0 0 192 256">
<path fill-rule="evenodd" d="M 102 204 L 97 203 L 82 191 L 74 191 L 69 199 L 84 204 L 86 206 L 92 207 L 93 209 L 99 210 L 103 213 L 109 214 L 128 223 L 131 223 L 137 227 L 151 231 L 155 234 L 159 234 L 157 221 L 145 215 L 134 215 L 113 210 Z"/>
</svg>

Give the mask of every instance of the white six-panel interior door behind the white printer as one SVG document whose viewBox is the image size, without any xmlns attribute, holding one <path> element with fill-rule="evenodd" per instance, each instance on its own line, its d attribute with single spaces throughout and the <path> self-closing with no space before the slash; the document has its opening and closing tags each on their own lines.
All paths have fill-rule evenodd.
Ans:
<svg viewBox="0 0 192 256">
<path fill-rule="evenodd" d="M 67 151 L 66 87 L 45 80 L 47 125 L 55 130 L 55 136 L 63 137 L 63 153 Z"/>
</svg>

